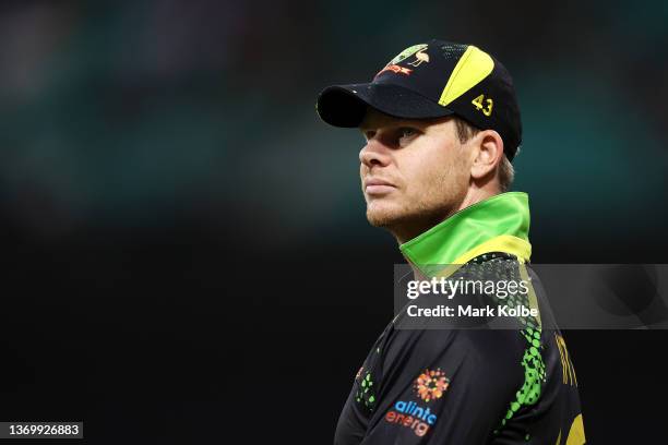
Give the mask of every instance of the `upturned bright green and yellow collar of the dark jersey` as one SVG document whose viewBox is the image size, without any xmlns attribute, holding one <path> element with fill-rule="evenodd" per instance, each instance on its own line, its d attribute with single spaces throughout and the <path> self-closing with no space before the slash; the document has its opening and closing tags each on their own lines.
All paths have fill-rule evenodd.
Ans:
<svg viewBox="0 0 668 445">
<path fill-rule="evenodd" d="M 425 266 L 465 264 L 488 252 L 506 252 L 528 262 L 528 195 L 508 192 L 461 209 L 405 242 L 399 250 L 410 263 Z"/>
</svg>

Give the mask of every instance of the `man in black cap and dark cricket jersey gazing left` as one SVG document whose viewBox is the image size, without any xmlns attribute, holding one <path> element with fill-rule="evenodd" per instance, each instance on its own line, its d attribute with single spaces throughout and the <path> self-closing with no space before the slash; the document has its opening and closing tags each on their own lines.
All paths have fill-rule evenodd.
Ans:
<svg viewBox="0 0 668 445">
<path fill-rule="evenodd" d="M 371 83 L 325 88 L 317 107 L 325 122 L 362 132 L 367 218 L 396 238 L 416 277 L 528 278 L 528 199 L 508 192 L 522 125 L 498 60 L 430 40 Z M 537 312 L 512 318 L 516 328 L 402 328 L 401 312 L 357 373 L 335 443 L 583 444 L 565 342 L 547 326 L 538 282 L 526 282 L 530 291 L 508 301 Z M 499 293 L 473 300 L 498 303 Z"/>
</svg>

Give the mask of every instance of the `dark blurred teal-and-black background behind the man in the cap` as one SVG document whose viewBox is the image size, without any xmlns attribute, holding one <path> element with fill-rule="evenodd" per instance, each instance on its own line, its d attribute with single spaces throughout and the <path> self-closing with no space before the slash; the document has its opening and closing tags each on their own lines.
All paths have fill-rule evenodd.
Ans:
<svg viewBox="0 0 668 445">
<path fill-rule="evenodd" d="M 663 1 L 2 1 L 0 420 L 331 443 L 402 257 L 315 97 L 432 37 L 514 76 L 535 263 L 663 263 L 666 23 Z M 564 334 L 589 443 L 665 442 L 668 333 Z"/>
</svg>

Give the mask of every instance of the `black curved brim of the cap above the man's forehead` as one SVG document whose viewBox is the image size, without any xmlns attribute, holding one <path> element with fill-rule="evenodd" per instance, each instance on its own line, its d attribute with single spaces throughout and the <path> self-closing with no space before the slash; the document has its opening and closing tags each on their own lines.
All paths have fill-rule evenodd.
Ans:
<svg viewBox="0 0 668 445">
<path fill-rule="evenodd" d="M 390 84 L 334 85 L 318 96 L 318 113 L 334 127 L 355 128 L 365 119 L 367 106 L 402 119 L 450 116 L 453 111 L 408 88 Z"/>
</svg>

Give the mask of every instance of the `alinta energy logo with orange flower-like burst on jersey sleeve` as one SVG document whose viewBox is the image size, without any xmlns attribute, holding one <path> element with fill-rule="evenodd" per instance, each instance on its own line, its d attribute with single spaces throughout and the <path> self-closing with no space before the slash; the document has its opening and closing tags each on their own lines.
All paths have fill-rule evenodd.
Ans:
<svg viewBox="0 0 668 445">
<path fill-rule="evenodd" d="M 450 380 L 440 369 L 425 370 L 416 380 L 413 388 L 426 404 L 439 399 L 448 390 Z M 415 435 L 424 436 L 437 422 L 437 414 L 429 407 L 422 407 L 415 401 L 398 400 L 385 413 L 385 421 L 413 430 Z"/>
</svg>

